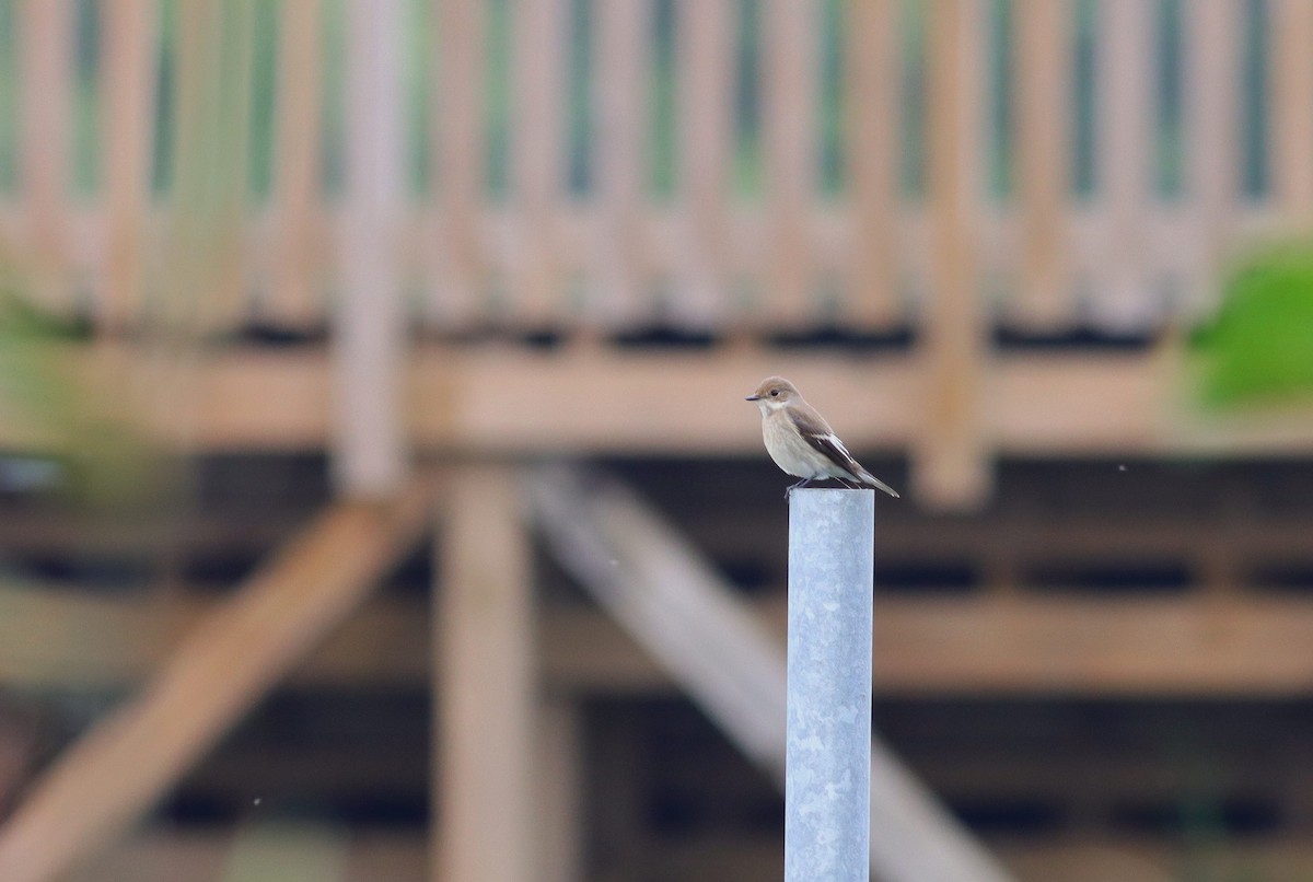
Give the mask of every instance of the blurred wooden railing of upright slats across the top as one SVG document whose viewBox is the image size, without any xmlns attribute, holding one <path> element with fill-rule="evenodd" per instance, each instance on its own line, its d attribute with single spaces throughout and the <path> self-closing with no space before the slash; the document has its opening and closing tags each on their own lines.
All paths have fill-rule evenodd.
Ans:
<svg viewBox="0 0 1313 882">
<path fill-rule="evenodd" d="M 1305 0 L 0 8 L 3 255 L 109 331 L 1145 329 L 1313 217 Z"/>
</svg>

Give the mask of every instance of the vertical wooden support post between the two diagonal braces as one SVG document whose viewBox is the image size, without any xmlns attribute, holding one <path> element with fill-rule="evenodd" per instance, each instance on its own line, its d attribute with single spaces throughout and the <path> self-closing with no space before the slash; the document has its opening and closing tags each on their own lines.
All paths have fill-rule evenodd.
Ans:
<svg viewBox="0 0 1313 882">
<path fill-rule="evenodd" d="M 529 536 L 512 466 L 453 476 L 435 587 L 433 878 L 536 878 Z"/>
</svg>

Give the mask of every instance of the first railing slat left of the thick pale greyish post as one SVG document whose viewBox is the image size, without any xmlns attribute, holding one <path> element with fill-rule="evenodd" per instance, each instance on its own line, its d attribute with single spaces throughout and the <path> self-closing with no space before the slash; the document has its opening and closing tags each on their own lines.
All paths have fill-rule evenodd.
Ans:
<svg viewBox="0 0 1313 882">
<path fill-rule="evenodd" d="M 274 324 L 303 328 L 327 318 L 320 276 L 320 0 L 284 3 L 278 12 L 273 182 L 278 249 L 273 286 L 261 299 L 260 314 Z"/>
</svg>

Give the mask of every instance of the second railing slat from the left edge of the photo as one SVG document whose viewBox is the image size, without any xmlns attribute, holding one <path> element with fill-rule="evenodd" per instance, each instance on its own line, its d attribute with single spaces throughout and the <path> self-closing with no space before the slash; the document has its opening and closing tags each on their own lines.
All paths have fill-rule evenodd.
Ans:
<svg viewBox="0 0 1313 882">
<path fill-rule="evenodd" d="M 146 286 L 146 224 L 155 123 L 155 3 L 100 4 L 104 20 L 105 280 L 96 303 L 102 331 L 135 318 Z"/>
</svg>

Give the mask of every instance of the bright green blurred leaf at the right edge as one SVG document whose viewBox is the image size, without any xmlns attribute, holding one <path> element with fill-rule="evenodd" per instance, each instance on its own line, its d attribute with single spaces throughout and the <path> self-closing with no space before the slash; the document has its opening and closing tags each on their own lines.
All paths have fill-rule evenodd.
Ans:
<svg viewBox="0 0 1313 882">
<path fill-rule="evenodd" d="M 1313 243 L 1270 247 L 1241 262 L 1191 348 L 1208 406 L 1313 400 Z"/>
</svg>

